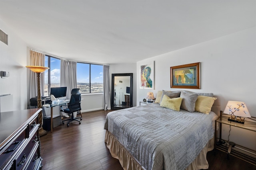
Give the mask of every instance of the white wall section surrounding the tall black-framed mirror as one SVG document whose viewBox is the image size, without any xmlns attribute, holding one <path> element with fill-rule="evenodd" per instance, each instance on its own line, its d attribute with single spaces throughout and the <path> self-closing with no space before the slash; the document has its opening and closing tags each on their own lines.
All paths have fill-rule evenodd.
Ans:
<svg viewBox="0 0 256 170">
<path fill-rule="evenodd" d="M 136 106 L 136 95 L 137 95 L 136 63 L 110 64 L 110 79 L 112 78 L 112 74 L 118 74 L 118 73 L 133 73 L 132 74 L 133 76 L 132 106 Z M 111 80 L 110 80 L 110 88 L 111 88 Z"/>
</svg>

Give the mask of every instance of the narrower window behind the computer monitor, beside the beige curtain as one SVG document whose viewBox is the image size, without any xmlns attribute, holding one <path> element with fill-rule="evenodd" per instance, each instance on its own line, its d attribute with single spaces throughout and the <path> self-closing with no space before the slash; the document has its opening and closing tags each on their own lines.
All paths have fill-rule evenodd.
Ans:
<svg viewBox="0 0 256 170">
<path fill-rule="evenodd" d="M 44 72 L 44 96 L 50 96 L 51 87 L 60 87 L 60 59 L 45 55 L 44 65 L 50 67 Z"/>
</svg>

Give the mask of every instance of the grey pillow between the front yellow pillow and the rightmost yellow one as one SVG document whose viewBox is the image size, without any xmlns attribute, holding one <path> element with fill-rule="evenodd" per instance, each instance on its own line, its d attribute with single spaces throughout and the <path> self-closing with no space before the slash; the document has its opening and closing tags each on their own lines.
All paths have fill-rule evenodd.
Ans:
<svg viewBox="0 0 256 170">
<path fill-rule="evenodd" d="M 180 108 L 190 111 L 190 112 L 194 112 L 195 111 L 195 107 L 196 107 L 196 100 L 198 98 L 198 94 L 196 93 L 187 93 L 182 91 L 180 93 L 180 97 L 182 98 L 182 103 Z"/>
</svg>

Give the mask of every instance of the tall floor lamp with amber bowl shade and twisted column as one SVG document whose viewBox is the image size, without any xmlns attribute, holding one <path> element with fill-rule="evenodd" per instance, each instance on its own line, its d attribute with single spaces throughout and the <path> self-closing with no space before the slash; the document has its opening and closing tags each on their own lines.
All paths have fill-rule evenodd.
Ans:
<svg viewBox="0 0 256 170">
<path fill-rule="evenodd" d="M 26 66 L 29 68 L 32 72 L 36 72 L 37 76 L 37 107 L 42 108 L 42 99 L 41 99 L 41 92 L 40 92 L 40 74 L 41 72 L 44 72 L 45 70 L 48 70 L 49 67 L 44 67 L 44 66 Z M 43 114 L 42 111 L 40 111 L 38 115 L 38 121 L 40 124 L 39 127 L 39 136 L 44 136 L 47 134 L 47 131 L 43 129 Z"/>
</svg>

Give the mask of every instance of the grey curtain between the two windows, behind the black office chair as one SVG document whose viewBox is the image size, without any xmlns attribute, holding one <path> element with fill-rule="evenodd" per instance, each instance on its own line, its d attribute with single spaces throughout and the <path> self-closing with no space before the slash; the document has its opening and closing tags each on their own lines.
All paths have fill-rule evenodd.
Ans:
<svg viewBox="0 0 256 170">
<path fill-rule="evenodd" d="M 67 87 L 67 98 L 71 97 L 71 90 L 76 88 L 76 62 L 60 60 L 60 86 Z"/>
</svg>

